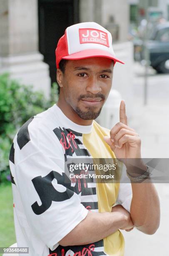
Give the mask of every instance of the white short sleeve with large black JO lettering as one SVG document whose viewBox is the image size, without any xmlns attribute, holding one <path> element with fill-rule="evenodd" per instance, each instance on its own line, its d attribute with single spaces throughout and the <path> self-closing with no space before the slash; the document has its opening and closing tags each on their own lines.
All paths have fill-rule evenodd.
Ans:
<svg viewBox="0 0 169 256">
<path fill-rule="evenodd" d="M 88 213 L 65 176 L 59 147 L 52 154 L 49 145 L 40 150 L 32 139 L 21 150 L 15 143 L 15 179 L 27 221 L 51 250 Z"/>
</svg>

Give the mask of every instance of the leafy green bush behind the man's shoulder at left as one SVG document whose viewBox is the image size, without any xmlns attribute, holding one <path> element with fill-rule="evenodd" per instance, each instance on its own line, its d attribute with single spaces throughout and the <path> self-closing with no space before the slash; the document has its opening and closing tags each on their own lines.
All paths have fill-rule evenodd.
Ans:
<svg viewBox="0 0 169 256">
<path fill-rule="evenodd" d="M 58 100 L 58 85 L 52 84 L 50 100 L 32 86 L 0 75 L 0 182 L 10 180 L 9 153 L 19 128 L 33 115 L 50 108 Z"/>
</svg>

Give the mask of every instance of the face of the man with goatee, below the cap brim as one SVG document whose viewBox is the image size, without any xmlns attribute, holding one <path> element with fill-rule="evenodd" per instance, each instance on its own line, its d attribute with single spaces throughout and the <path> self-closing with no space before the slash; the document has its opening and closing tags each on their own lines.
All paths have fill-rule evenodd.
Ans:
<svg viewBox="0 0 169 256">
<path fill-rule="evenodd" d="M 97 118 L 109 95 L 112 77 L 111 59 L 94 57 L 67 61 L 64 74 L 57 72 L 62 104 L 84 120 Z"/>
</svg>

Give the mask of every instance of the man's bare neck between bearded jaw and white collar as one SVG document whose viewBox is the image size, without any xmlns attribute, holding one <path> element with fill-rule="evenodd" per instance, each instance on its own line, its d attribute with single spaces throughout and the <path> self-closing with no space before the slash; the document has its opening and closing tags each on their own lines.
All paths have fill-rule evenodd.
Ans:
<svg viewBox="0 0 169 256">
<path fill-rule="evenodd" d="M 57 106 L 62 110 L 62 112 L 69 118 L 72 122 L 78 124 L 78 125 L 91 125 L 93 120 L 84 120 L 80 118 L 79 115 L 75 112 L 75 110 L 65 102 L 65 100 L 62 100 L 62 97 L 59 97 L 59 100 L 57 102 Z"/>
</svg>

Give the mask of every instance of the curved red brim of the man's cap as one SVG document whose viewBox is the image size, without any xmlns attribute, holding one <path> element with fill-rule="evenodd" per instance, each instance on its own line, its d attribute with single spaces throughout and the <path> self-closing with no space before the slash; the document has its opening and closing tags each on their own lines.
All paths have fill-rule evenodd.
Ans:
<svg viewBox="0 0 169 256">
<path fill-rule="evenodd" d="M 99 49 L 98 50 L 97 49 L 89 49 L 89 50 L 79 51 L 74 54 L 64 56 L 64 57 L 62 57 L 62 59 L 75 60 L 75 59 L 87 59 L 87 58 L 92 58 L 92 57 L 105 57 L 108 59 L 112 59 L 115 62 L 124 64 L 123 61 L 116 59 L 115 56 L 113 56 L 112 54 L 109 54 L 107 51 L 102 51 Z"/>
</svg>

